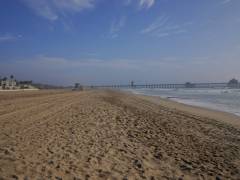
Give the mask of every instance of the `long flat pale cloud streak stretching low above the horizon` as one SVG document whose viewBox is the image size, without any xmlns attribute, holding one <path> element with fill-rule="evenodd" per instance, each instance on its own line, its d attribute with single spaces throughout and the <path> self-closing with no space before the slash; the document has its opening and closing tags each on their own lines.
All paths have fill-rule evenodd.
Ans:
<svg viewBox="0 0 240 180">
<path fill-rule="evenodd" d="M 213 60 L 212 60 L 213 61 Z M 144 69 L 147 67 L 160 67 L 169 65 L 177 67 L 182 63 L 199 64 L 211 62 L 210 57 L 188 57 L 179 58 L 175 56 L 161 57 L 159 59 L 112 59 L 101 58 L 68 59 L 63 57 L 52 57 L 38 55 L 30 59 L 19 60 L 19 64 L 29 64 L 32 67 L 48 69 L 78 69 L 78 68 L 110 68 L 110 69 Z"/>
</svg>

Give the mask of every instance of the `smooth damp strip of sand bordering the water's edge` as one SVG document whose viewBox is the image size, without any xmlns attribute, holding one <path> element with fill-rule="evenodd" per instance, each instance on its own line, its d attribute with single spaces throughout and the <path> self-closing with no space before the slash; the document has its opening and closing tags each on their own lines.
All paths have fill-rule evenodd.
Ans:
<svg viewBox="0 0 240 180">
<path fill-rule="evenodd" d="M 125 92 L 125 91 L 124 91 Z M 144 95 L 144 94 L 135 94 L 132 92 L 126 92 L 131 95 L 135 95 L 145 100 L 149 100 L 152 103 L 157 105 L 165 106 L 170 109 L 177 109 L 183 112 L 187 112 L 193 115 L 211 118 L 215 120 L 219 120 L 226 123 L 231 123 L 232 125 L 236 125 L 240 127 L 240 116 L 236 114 L 219 111 L 207 107 L 195 106 L 190 104 L 181 103 L 178 101 L 174 101 L 172 99 L 162 98 L 160 96 L 151 96 L 151 95 Z"/>
</svg>

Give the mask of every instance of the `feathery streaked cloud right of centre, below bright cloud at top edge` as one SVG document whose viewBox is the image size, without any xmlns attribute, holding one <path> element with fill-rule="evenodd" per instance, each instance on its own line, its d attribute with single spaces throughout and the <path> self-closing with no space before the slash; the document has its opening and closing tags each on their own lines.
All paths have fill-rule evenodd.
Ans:
<svg viewBox="0 0 240 180">
<path fill-rule="evenodd" d="M 174 24 L 168 16 L 160 16 L 152 24 L 140 31 L 141 34 L 149 34 L 156 37 L 167 37 L 170 35 L 182 34 L 187 32 L 186 27 L 191 23 L 182 25 Z"/>
</svg>

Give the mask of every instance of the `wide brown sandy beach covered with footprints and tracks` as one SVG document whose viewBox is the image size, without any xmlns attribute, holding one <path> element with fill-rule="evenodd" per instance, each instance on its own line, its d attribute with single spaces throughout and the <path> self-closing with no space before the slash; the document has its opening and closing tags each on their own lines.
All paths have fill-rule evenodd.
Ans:
<svg viewBox="0 0 240 180">
<path fill-rule="evenodd" d="M 0 92 L 0 179 L 240 179 L 237 121 L 179 106 L 114 91 Z"/>
</svg>

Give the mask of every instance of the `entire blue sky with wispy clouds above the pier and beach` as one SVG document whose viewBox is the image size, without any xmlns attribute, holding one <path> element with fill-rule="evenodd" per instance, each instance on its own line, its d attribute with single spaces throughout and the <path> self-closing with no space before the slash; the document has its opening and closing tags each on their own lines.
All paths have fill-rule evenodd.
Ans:
<svg viewBox="0 0 240 180">
<path fill-rule="evenodd" d="M 240 79 L 240 0 L 0 0 L 0 76 L 54 85 Z"/>
</svg>

